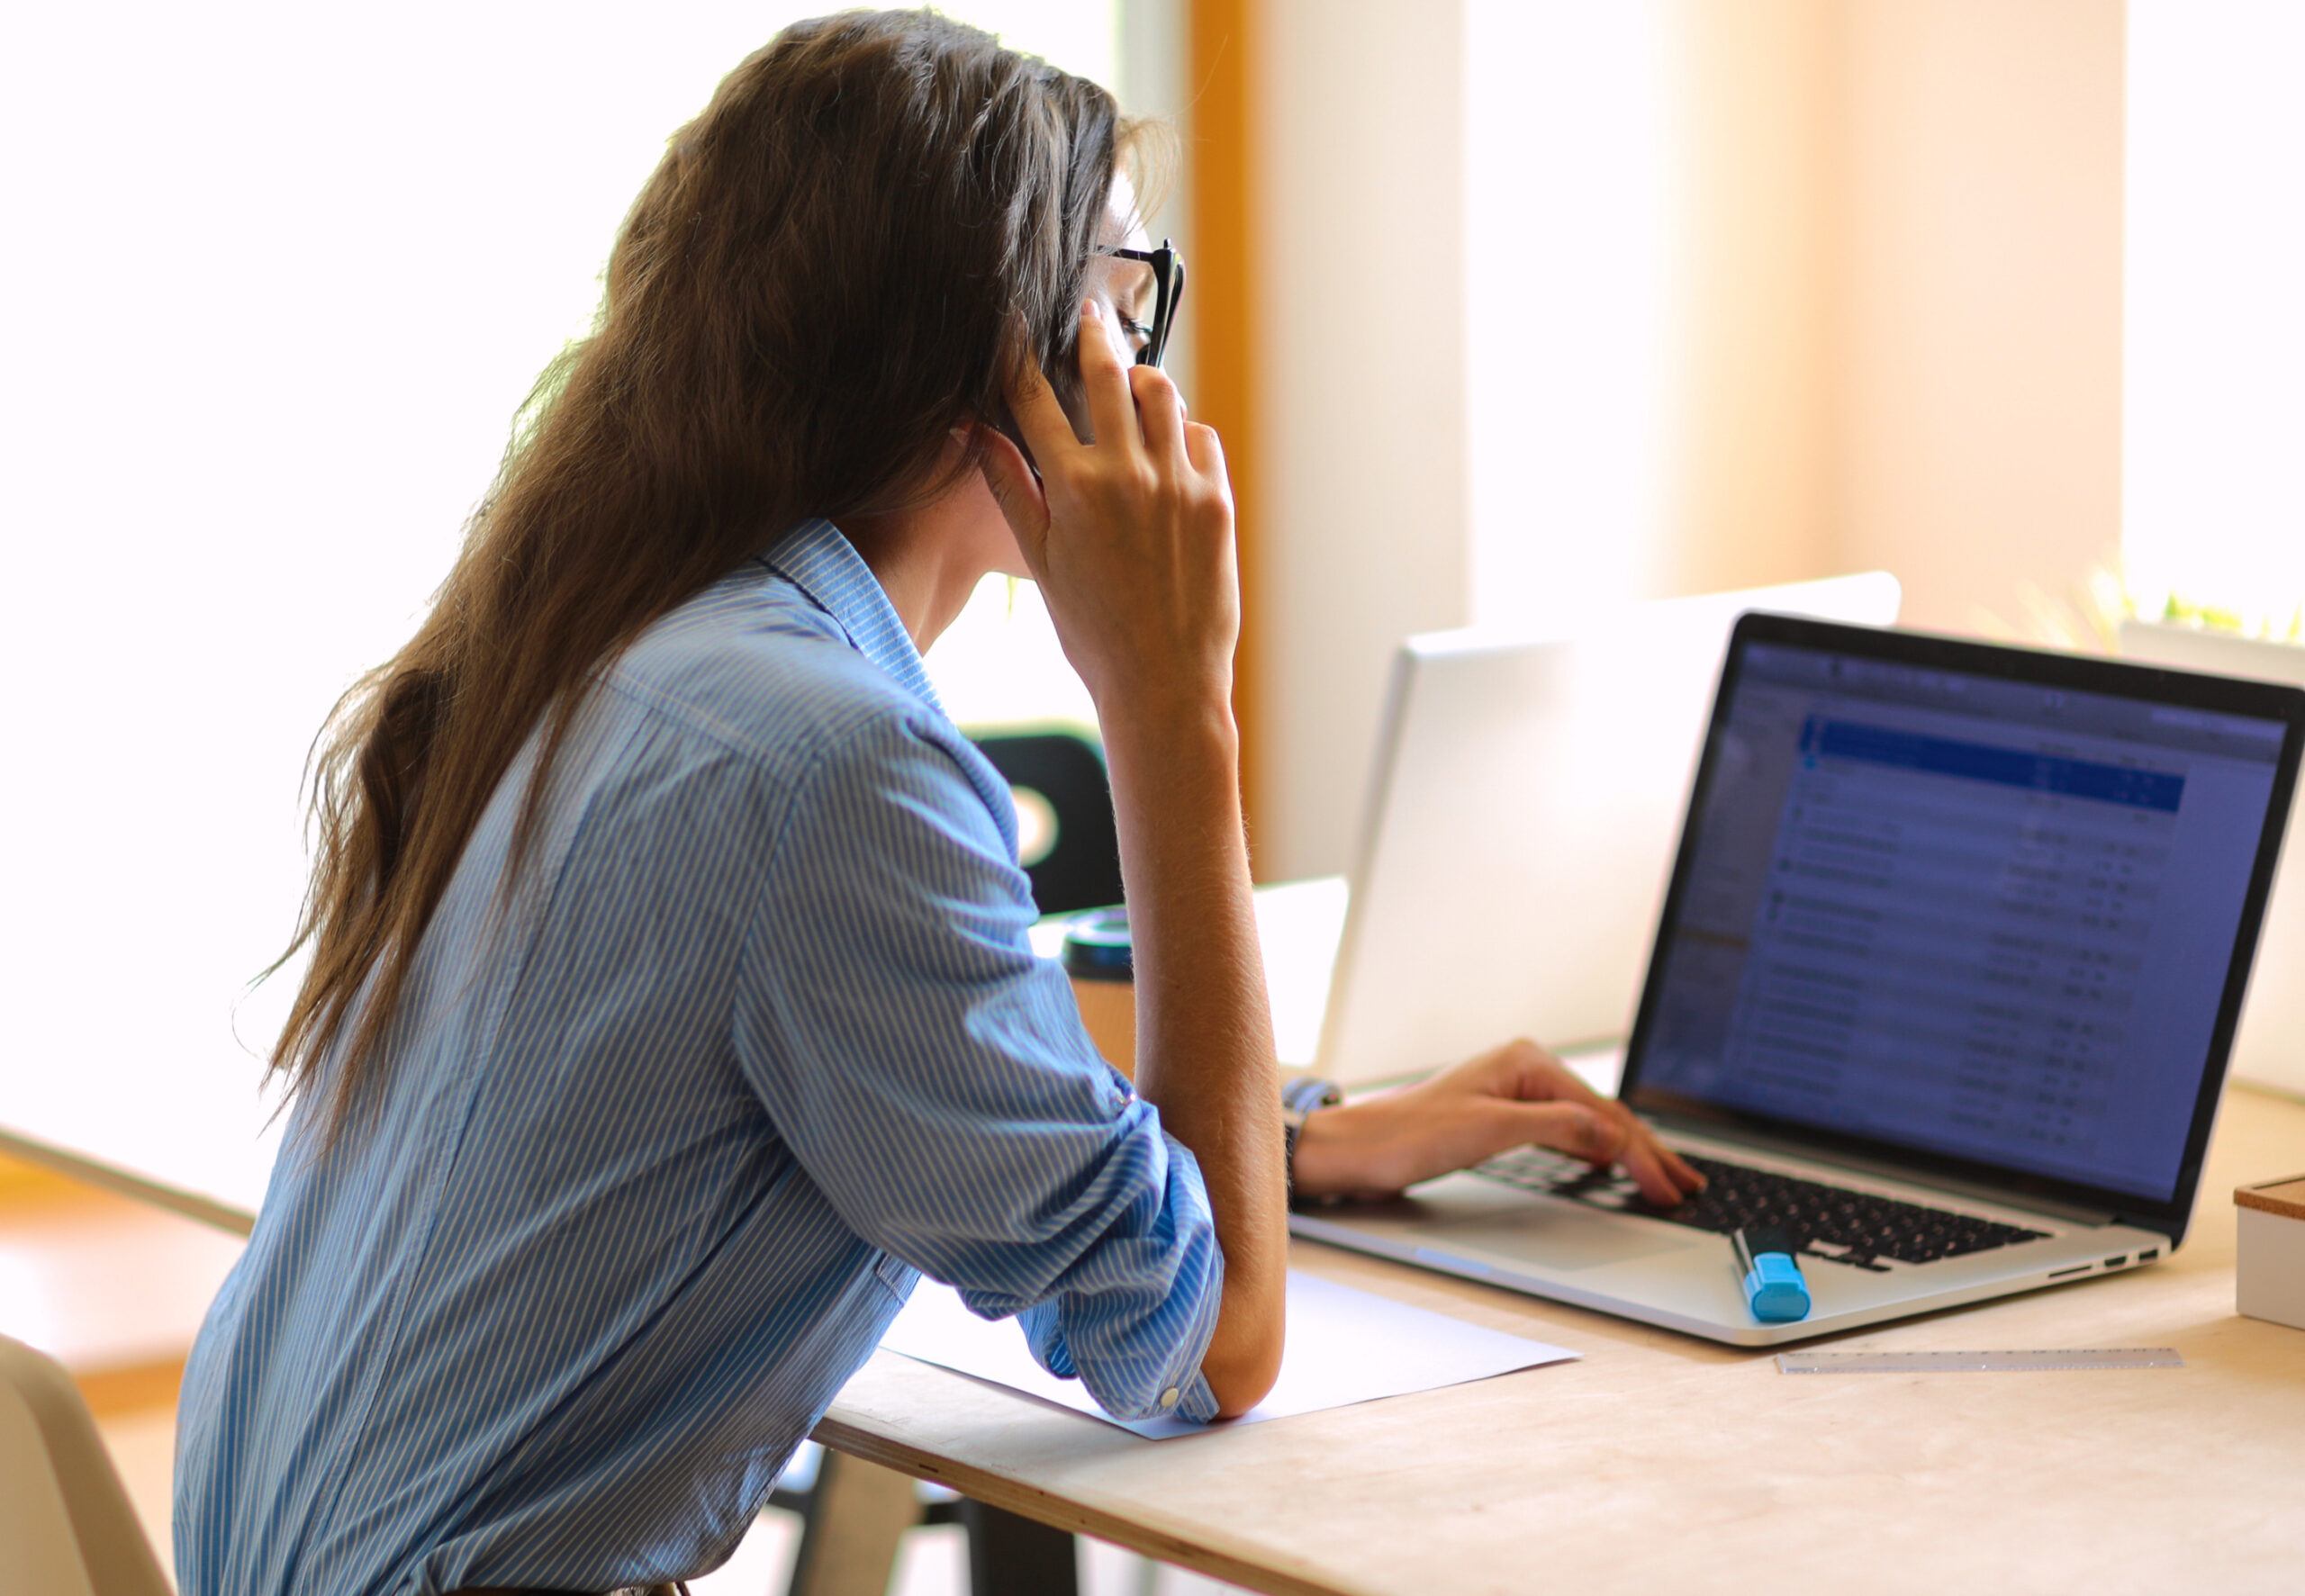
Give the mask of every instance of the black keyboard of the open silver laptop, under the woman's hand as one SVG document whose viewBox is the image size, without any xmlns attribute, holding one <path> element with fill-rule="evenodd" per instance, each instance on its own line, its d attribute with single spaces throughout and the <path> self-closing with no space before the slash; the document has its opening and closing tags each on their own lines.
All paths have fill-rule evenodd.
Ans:
<svg viewBox="0 0 2305 1596">
<path fill-rule="evenodd" d="M 1773 1175 L 1743 1163 L 1683 1154 L 1706 1188 L 1676 1209 L 1650 1204 L 1632 1177 L 1597 1170 L 1581 1158 L 1567 1158 L 1542 1147 L 1503 1154 L 1473 1170 L 1491 1181 L 1542 1191 L 1554 1198 L 1586 1202 L 1597 1209 L 1648 1214 L 1676 1225 L 1694 1225 L 1729 1234 L 1740 1225 L 1779 1225 L 1800 1237 L 1803 1257 L 1821 1257 L 1853 1269 L 1888 1271 L 1895 1264 L 1934 1264 L 1941 1257 L 1966 1257 L 2010 1241 L 2033 1241 L 2047 1230 L 2024 1230 L 1971 1214 L 1876 1198 L 1865 1191 Z"/>
</svg>

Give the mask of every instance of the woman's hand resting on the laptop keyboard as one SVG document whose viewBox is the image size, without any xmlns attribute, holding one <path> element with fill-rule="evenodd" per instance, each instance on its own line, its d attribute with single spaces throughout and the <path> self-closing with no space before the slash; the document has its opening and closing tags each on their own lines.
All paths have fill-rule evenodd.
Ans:
<svg viewBox="0 0 2305 1596">
<path fill-rule="evenodd" d="M 1660 1207 L 1706 1184 L 1630 1108 L 1593 1092 L 1537 1043 L 1507 1041 L 1413 1087 L 1309 1115 L 1298 1133 L 1295 1193 L 1395 1193 L 1528 1145 L 1618 1165 Z"/>
</svg>

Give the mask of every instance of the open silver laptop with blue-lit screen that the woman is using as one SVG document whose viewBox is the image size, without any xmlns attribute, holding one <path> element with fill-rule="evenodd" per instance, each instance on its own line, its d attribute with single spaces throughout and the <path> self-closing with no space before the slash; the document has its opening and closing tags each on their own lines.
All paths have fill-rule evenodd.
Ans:
<svg viewBox="0 0 2305 1596">
<path fill-rule="evenodd" d="M 1657 1214 L 1524 1152 L 1291 1225 L 1738 1345 L 2155 1262 L 2300 744 L 2289 686 L 1747 615 L 1620 1082 L 1710 1186 Z M 1761 1223 L 1805 1320 L 1745 1306 Z"/>
</svg>

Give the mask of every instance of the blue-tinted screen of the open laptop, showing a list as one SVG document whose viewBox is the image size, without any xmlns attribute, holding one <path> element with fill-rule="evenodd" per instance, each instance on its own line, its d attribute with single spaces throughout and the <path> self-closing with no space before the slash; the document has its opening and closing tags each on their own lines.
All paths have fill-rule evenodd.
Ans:
<svg viewBox="0 0 2305 1596">
<path fill-rule="evenodd" d="M 1641 1094 L 2171 1200 L 2287 721 L 1745 633 L 1724 682 Z"/>
</svg>

